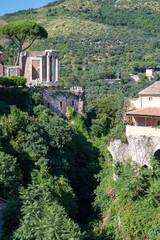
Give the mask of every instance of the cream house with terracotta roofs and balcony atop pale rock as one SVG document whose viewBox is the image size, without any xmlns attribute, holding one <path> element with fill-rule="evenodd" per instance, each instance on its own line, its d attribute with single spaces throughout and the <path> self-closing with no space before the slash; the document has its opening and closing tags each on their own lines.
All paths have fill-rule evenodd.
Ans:
<svg viewBox="0 0 160 240">
<path fill-rule="evenodd" d="M 160 81 L 139 92 L 126 113 L 127 136 L 160 137 Z"/>
</svg>

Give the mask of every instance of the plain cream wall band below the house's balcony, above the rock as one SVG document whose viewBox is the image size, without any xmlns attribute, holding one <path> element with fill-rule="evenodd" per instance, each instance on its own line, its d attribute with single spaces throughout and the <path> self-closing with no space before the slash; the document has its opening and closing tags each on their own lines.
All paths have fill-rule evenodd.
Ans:
<svg viewBox="0 0 160 240">
<path fill-rule="evenodd" d="M 160 137 L 160 128 L 145 126 L 126 126 L 126 136 L 152 136 Z"/>
</svg>

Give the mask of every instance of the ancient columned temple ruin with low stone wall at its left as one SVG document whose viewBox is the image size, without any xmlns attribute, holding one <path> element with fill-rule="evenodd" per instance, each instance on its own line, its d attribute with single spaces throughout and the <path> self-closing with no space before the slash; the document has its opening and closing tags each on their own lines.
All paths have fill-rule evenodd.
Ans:
<svg viewBox="0 0 160 240">
<path fill-rule="evenodd" d="M 2 54 L 2 53 L 1 53 Z M 1 57 L 0 54 L 0 57 Z M 27 85 L 51 85 L 59 78 L 59 52 L 56 50 L 29 51 L 20 55 L 19 66 L 1 64 L 0 75 L 24 76 Z"/>
</svg>

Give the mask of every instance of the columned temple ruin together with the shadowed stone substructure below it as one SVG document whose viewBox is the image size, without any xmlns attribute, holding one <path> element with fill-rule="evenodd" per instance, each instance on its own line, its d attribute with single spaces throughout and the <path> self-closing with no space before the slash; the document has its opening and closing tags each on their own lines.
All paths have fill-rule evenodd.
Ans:
<svg viewBox="0 0 160 240">
<path fill-rule="evenodd" d="M 22 52 L 19 66 L 1 64 L 0 76 L 24 76 L 28 86 L 50 86 L 59 83 L 59 52 L 56 50 Z M 34 92 L 42 95 L 43 104 L 51 112 L 64 116 L 68 107 L 84 113 L 84 93 L 81 87 L 65 88 L 30 88 L 30 96 Z"/>
</svg>

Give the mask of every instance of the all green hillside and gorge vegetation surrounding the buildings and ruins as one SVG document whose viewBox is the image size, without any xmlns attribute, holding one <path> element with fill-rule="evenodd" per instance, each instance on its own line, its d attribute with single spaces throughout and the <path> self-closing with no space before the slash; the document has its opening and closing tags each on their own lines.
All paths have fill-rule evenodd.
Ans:
<svg viewBox="0 0 160 240">
<path fill-rule="evenodd" d="M 39 95 L 31 101 L 29 88 L 0 88 L 3 239 L 159 240 L 159 162 L 115 163 L 107 146 L 127 141 L 126 97 L 159 80 L 144 72 L 160 67 L 160 1 L 59 0 L 1 16 L 0 24 L 18 19 L 47 29 L 48 39 L 30 50 L 60 51 L 60 84 L 83 87 L 85 114 L 69 108 L 61 119 Z M 0 51 L 3 64 L 15 63 L 10 41 L 0 39 Z"/>
</svg>

